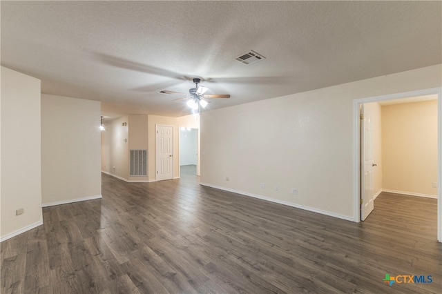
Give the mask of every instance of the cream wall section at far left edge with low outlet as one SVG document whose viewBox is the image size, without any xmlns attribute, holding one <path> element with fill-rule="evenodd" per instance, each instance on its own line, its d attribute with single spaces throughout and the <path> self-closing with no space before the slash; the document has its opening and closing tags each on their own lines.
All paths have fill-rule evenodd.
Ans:
<svg viewBox="0 0 442 294">
<path fill-rule="evenodd" d="M 40 117 L 40 80 L 1 67 L 2 241 L 43 223 Z"/>
</svg>

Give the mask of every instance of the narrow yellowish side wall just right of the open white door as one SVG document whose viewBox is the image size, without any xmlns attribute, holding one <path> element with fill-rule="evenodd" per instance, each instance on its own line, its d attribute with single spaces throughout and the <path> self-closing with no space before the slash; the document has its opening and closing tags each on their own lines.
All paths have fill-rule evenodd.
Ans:
<svg viewBox="0 0 442 294">
<path fill-rule="evenodd" d="M 383 157 L 382 157 L 382 107 L 378 102 L 364 104 L 364 108 L 369 108 L 373 119 L 373 193 L 377 197 L 383 190 Z"/>
</svg>

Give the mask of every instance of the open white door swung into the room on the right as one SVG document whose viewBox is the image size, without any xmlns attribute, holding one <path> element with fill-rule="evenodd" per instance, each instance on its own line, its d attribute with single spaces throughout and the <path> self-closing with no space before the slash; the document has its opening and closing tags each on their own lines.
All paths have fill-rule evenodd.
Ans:
<svg viewBox="0 0 442 294">
<path fill-rule="evenodd" d="M 361 220 L 374 209 L 373 115 L 361 106 Z"/>
</svg>

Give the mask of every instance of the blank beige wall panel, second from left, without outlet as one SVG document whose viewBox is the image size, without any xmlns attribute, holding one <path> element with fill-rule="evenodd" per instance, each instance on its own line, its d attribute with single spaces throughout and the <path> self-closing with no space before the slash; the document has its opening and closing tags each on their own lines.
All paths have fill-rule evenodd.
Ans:
<svg viewBox="0 0 442 294">
<path fill-rule="evenodd" d="M 41 95 L 43 206 L 101 197 L 99 101 Z"/>
</svg>

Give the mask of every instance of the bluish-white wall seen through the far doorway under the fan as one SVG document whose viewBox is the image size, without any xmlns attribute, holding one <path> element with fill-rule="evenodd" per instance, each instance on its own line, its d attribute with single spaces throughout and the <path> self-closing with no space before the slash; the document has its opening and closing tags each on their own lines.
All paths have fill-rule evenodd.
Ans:
<svg viewBox="0 0 442 294">
<path fill-rule="evenodd" d="M 198 157 L 197 140 L 198 140 L 197 129 L 180 128 L 180 166 L 197 164 L 197 157 Z"/>
</svg>

